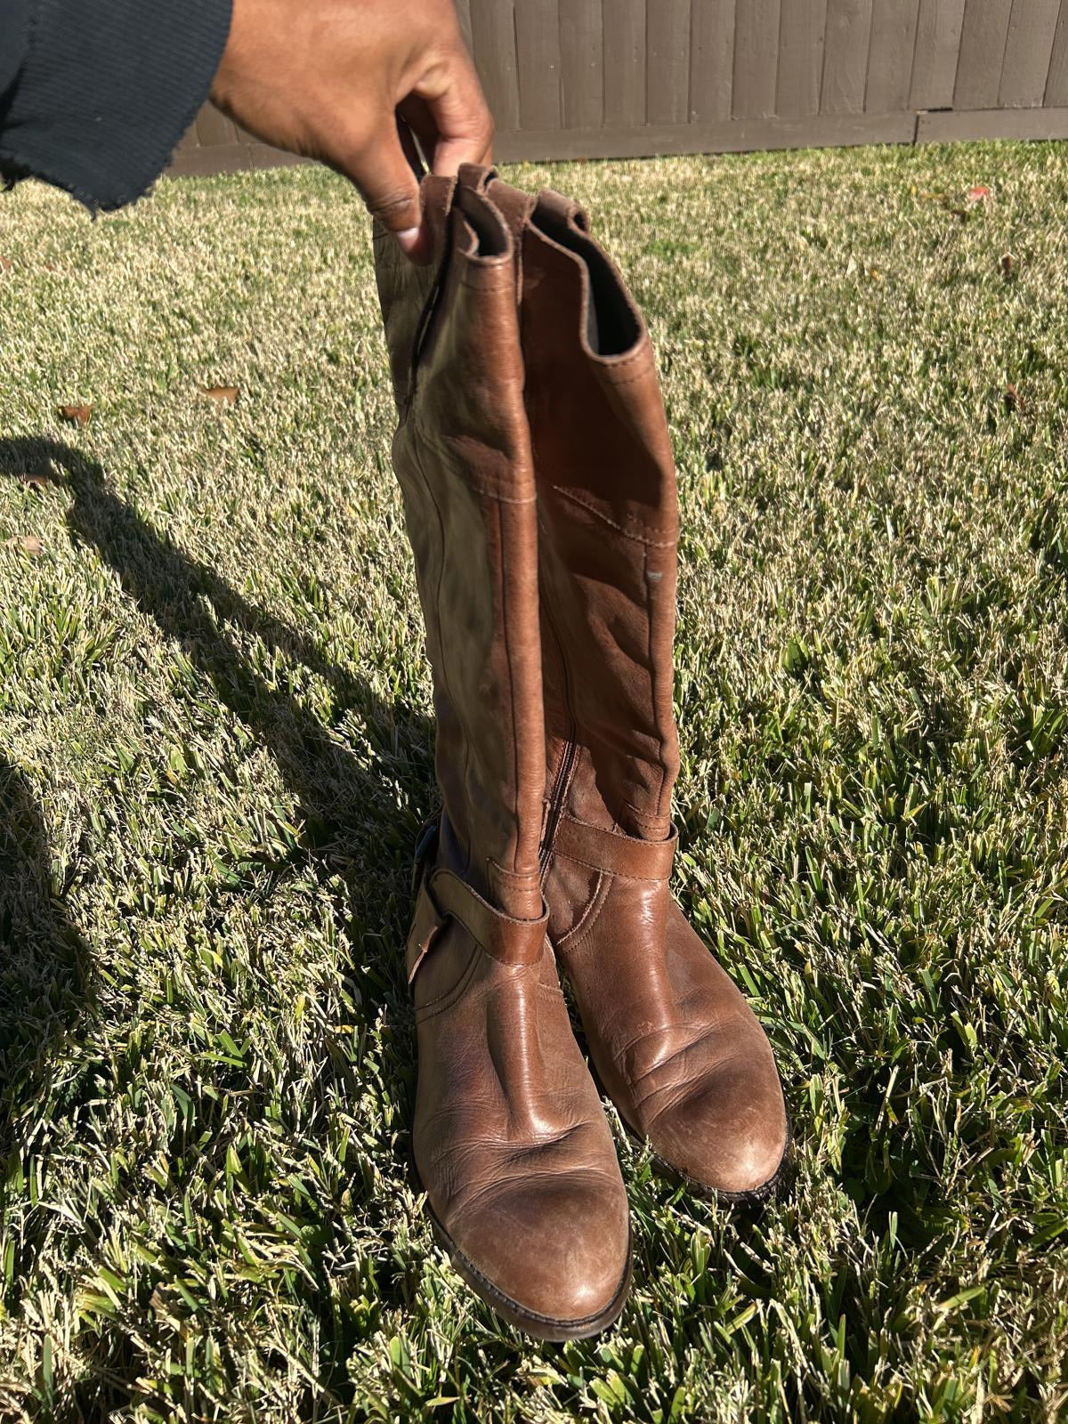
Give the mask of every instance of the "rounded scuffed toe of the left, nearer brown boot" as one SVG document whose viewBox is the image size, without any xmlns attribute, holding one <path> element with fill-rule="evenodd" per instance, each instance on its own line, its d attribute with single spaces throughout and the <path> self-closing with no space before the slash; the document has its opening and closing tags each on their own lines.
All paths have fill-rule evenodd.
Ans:
<svg viewBox="0 0 1068 1424">
<path fill-rule="evenodd" d="M 528 1333 L 595 1334 L 622 1310 L 631 1274 L 622 1180 L 517 1180 L 471 1203 L 447 1235 L 460 1274 Z"/>
</svg>

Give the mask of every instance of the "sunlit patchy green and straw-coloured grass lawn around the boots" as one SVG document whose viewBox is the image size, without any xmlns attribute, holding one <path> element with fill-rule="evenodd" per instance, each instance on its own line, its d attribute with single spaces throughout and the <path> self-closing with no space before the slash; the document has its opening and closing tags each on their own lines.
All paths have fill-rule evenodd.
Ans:
<svg viewBox="0 0 1068 1424">
<path fill-rule="evenodd" d="M 735 1219 L 614 1122 L 618 1329 L 538 1349 L 463 1287 L 406 1168 L 430 686 L 367 224 L 313 169 L 97 224 L 26 185 L 0 1418 L 1068 1418 L 1068 147 L 508 175 L 588 204 L 658 346 L 675 889 L 795 1190 Z"/>
</svg>

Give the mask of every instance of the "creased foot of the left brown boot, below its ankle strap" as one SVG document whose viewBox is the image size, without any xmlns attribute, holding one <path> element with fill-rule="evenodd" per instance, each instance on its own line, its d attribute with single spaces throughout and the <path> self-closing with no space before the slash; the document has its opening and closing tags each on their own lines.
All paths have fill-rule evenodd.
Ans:
<svg viewBox="0 0 1068 1424">
<path fill-rule="evenodd" d="M 419 910 L 414 923 L 419 938 Z M 572 1340 L 622 1310 L 629 1209 L 544 920 L 537 924 L 531 963 L 501 963 L 456 918 L 424 956 L 412 1145 L 460 1274 L 527 1334 Z M 507 934 L 515 938 L 514 924 Z M 501 953 L 500 938 L 484 938 Z"/>
</svg>

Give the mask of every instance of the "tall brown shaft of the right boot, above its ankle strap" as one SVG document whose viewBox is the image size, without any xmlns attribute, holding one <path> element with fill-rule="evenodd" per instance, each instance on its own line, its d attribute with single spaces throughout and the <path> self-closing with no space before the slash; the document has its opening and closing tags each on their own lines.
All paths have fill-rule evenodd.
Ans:
<svg viewBox="0 0 1068 1424">
<path fill-rule="evenodd" d="M 645 323 L 585 215 L 484 171 L 520 252 L 538 500 L 548 822 L 662 840 L 678 775 L 672 702 L 678 498 Z"/>
</svg>

